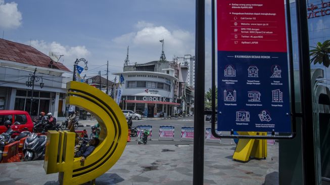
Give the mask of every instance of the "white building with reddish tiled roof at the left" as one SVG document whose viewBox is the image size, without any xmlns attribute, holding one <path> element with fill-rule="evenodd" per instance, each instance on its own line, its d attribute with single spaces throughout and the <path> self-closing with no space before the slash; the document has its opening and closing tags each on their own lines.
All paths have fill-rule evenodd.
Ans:
<svg viewBox="0 0 330 185">
<path fill-rule="evenodd" d="M 35 81 L 27 86 L 31 75 Z M 0 39 L 0 110 L 24 110 L 37 116 L 38 112 L 52 112 L 55 117 L 65 111 L 66 79 L 70 70 L 54 62 L 29 45 Z M 42 84 L 40 84 L 42 83 Z M 32 97 L 32 105 L 31 105 Z"/>
</svg>

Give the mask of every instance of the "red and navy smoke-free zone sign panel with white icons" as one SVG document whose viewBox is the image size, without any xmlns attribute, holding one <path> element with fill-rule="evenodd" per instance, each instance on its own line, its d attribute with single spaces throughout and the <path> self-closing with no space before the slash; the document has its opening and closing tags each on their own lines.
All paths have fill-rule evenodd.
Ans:
<svg viewBox="0 0 330 185">
<path fill-rule="evenodd" d="M 291 132 L 284 1 L 217 1 L 218 130 Z"/>
</svg>

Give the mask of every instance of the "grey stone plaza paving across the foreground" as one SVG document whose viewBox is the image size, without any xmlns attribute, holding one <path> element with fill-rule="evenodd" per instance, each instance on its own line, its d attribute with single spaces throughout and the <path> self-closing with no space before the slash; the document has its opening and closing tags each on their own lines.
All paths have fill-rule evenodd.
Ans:
<svg viewBox="0 0 330 185">
<path fill-rule="evenodd" d="M 204 184 L 278 184 L 278 145 L 268 157 L 242 163 L 231 159 L 234 146 L 205 146 Z M 87 158 L 88 160 L 88 158 Z M 43 161 L 0 164 L 0 184 L 59 184 L 45 174 Z M 193 145 L 127 145 L 118 162 L 96 184 L 192 184 Z"/>
</svg>

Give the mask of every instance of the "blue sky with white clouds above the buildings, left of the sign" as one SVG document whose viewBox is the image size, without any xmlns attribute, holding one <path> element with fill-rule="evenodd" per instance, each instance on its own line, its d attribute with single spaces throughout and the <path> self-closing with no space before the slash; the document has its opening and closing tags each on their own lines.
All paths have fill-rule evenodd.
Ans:
<svg viewBox="0 0 330 185">
<path fill-rule="evenodd" d="M 210 2 L 206 1 L 207 72 Z M 174 56 L 195 55 L 195 4 L 193 0 L 0 0 L 0 33 L 4 39 L 31 44 L 47 55 L 49 51 L 64 55 L 60 62 L 71 70 L 76 58 L 85 58 L 87 76 L 101 70 L 106 77 L 107 61 L 110 73 L 122 71 L 128 45 L 130 63 L 158 60 L 160 39 L 165 40 L 169 61 Z"/>
</svg>

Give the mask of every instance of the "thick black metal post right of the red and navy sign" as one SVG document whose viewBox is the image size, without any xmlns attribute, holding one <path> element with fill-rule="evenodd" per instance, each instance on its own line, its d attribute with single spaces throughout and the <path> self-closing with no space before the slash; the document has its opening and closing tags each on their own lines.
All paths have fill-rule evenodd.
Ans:
<svg viewBox="0 0 330 185">
<path fill-rule="evenodd" d="M 304 184 L 316 184 L 313 133 L 313 105 L 306 1 L 297 0 L 296 7 L 299 45 L 300 91 L 303 119 L 301 128 L 303 177 Z"/>
</svg>

